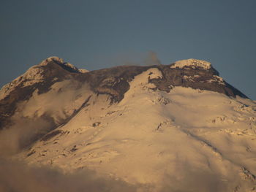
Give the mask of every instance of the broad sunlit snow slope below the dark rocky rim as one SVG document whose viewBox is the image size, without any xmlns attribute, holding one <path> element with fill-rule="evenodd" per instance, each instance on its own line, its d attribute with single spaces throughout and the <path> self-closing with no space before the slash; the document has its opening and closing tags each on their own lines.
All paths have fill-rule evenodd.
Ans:
<svg viewBox="0 0 256 192">
<path fill-rule="evenodd" d="M 255 191 L 256 103 L 181 86 L 160 91 L 151 80 L 161 78 L 157 67 L 136 75 L 116 103 L 80 92 L 86 104 L 15 158 L 65 172 L 93 169 L 140 184 L 138 191 Z M 48 109 L 47 96 L 35 94 L 27 106 Z"/>
</svg>

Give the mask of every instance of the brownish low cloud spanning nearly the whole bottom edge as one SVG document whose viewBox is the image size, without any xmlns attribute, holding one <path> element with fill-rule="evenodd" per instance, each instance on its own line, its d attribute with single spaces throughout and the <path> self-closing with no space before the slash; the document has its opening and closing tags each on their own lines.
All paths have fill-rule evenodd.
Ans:
<svg viewBox="0 0 256 192">
<path fill-rule="evenodd" d="M 123 180 L 102 177 L 89 169 L 64 174 L 49 166 L 28 166 L 21 161 L 0 159 L 1 192 L 227 192 L 244 188 L 233 180 L 222 180 L 219 175 L 178 163 L 173 174 L 166 174 L 158 185 L 132 185 Z"/>
</svg>

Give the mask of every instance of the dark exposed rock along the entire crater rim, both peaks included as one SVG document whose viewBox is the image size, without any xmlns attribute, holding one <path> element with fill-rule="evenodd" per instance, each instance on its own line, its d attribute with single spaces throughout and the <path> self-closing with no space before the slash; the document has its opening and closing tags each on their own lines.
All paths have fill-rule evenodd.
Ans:
<svg viewBox="0 0 256 192">
<path fill-rule="evenodd" d="M 20 101 L 28 100 L 34 91 L 46 93 L 56 82 L 75 80 L 79 86 L 88 82 L 91 91 L 108 94 L 112 103 L 119 102 L 129 90 L 129 82 L 147 69 L 157 68 L 161 78 L 148 79 L 158 90 L 170 92 L 174 86 L 224 93 L 227 96 L 246 96 L 225 82 L 207 61 L 189 59 L 170 65 L 159 66 L 116 66 L 88 72 L 78 69 L 61 58 L 50 57 L 37 66 L 32 66 L 25 74 L 4 85 L 0 91 L 0 129 L 10 123 Z"/>
</svg>

